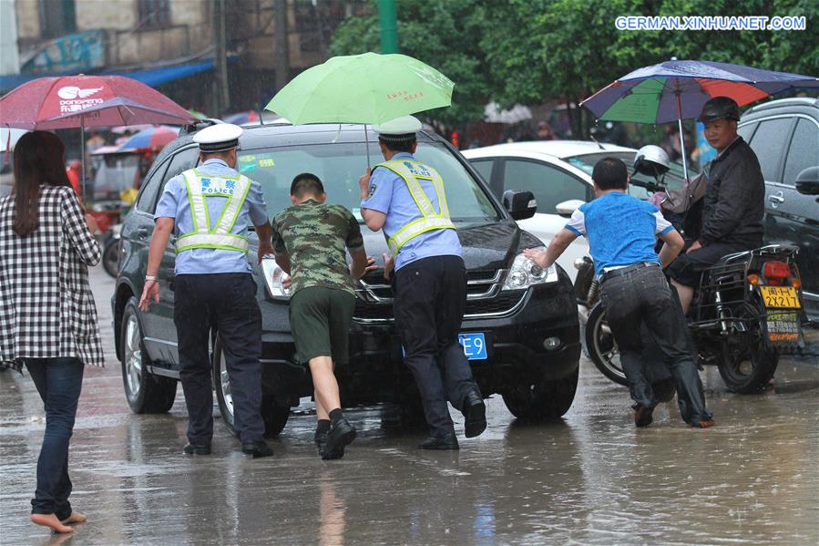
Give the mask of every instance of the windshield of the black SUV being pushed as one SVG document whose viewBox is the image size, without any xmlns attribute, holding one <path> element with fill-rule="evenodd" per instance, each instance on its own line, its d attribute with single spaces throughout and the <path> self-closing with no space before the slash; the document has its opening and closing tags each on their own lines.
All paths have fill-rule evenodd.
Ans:
<svg viewBox="0 0 819 546">
<path fill-rule="evenodd" d="M 434 166 L 444 179 L 452 221 L 479 225 L 498 220 L 492 202 L 444 145 L 419 142 L 415 159 Z M 371 145 L 371 164 L 382 160 L 380 150 Z M 363 221 L 358 178 L 366 171 L 366 166 L 367 156 L 362 143 L 244 149 L 239 154 L 239 169 L 261 184 L 271 218 L 291 205 L 293 178 L 302 172 L 312 172 L 322 180 L 327 202 L 343 205 L 358 221 Z"/>
</svg>

